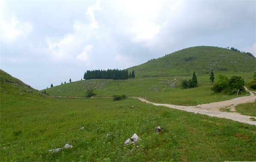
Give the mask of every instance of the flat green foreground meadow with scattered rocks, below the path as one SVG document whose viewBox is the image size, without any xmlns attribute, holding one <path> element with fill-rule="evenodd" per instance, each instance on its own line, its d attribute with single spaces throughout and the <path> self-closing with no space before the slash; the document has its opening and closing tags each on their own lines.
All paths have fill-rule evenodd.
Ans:
<svg viewBox="0 0 256 162">
<path fill-rule="evenodd" d="M 249 124 L 156 107 L 135 98 L 20 101 L 26 104 L 1 102 L 1 161 L 256 159 L 256 127 Z M 157 126 L 164 131 L 154 133 Z M 124 146 L 134 133 L 141 140 Z M 73 148 L 59 153 L 48 151 L 66 143 Z"/>
</svg>

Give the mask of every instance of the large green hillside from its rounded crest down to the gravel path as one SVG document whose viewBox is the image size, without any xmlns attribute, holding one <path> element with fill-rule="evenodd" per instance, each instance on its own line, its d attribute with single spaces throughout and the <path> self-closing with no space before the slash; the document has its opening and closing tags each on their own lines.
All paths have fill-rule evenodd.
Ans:
<svg viewBox="0 0 256 162">
<path fill-rule="evenodd" d="M 239 75 L 248 82 L 256 70 L 256 58 L 218 47 L 191 47 L 129 68 L 129 71 L 135 71 L 134 79 L 90 79 L 55 86 L 45 91 L 55 96 L 84 97 L 87 90 L 93 89 L 96 97 L 125 94 L 178 105 L 197 105 L 237 97 L 212 93 L 209 80 L 211 69 L 215 81 L 219 74 L 224 74 L 229 77 Z M 198 82 L 206 84 L 189 90 L 180 88 L 180 81 L 190 79 L 194 71 L 197 72 Z"/>
</svg>

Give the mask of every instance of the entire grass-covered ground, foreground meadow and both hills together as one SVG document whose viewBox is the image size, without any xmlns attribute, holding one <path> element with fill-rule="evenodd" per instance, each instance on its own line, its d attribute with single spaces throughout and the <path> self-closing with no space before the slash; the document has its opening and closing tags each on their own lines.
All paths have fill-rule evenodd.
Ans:
<svg viewBox="0 0 256 162">
<path fill-rule="evenodd" d="M 154 106 L 137 98 L 106 98 L 125 94 L 188 106 L 245 96 L 249 93 L 212 93 L 209 72 L 214 69 L 215 82 L 222 74 L 238 75 L 250 83 L 255 62 L 254 57 L 227 49 L 193 47 L 129 68 L 135 71 L 133 79 L 90 79 L 40 91 L 0 70 L 0 159 L 255 161 L 255 125 Z M 182 89 L 180 81 L 192 78 L 193 71 L 198 87 Z M 95 98 L 85 98 L 89 89 Z M 256 117 L 255 105 L 240 104 L 236 110 Z M 163 132 L 154 133 L 157 126 Z M 134 133 L 140 140 L 124 145 Z M 49 151 L 67 143 L 73 148 Z"/>
</svg>

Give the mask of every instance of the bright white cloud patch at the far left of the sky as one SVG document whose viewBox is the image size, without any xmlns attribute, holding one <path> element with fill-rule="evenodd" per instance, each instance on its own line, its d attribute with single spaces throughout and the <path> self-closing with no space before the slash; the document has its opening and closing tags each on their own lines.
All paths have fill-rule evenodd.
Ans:
<svg viewBox="0 0 256 162">
<path fill-rule="evenodd" d="M 3 23 L 3 36 L 9 41 L 12 41 L 19 36 L 27 35 L 33 29 L 31 23 L 20 22 L 17 20 L 17 17 L 12 17 L 10 22 L 3 20 L 1 23 Z"/>
</svg>

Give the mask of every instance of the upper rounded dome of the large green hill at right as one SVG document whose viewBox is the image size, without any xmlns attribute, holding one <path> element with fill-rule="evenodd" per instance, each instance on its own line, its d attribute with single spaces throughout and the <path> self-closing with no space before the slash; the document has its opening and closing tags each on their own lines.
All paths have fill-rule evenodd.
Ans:
<svg viewBox="0 0 256 162">
<path fill-rule="evenodd" d="M 242 52 L 213 46 L 195 46 L 131 67 L 136 77 L 209 74 L 214 72 L 255 72 L 256 58 Z"/>
</svg>

